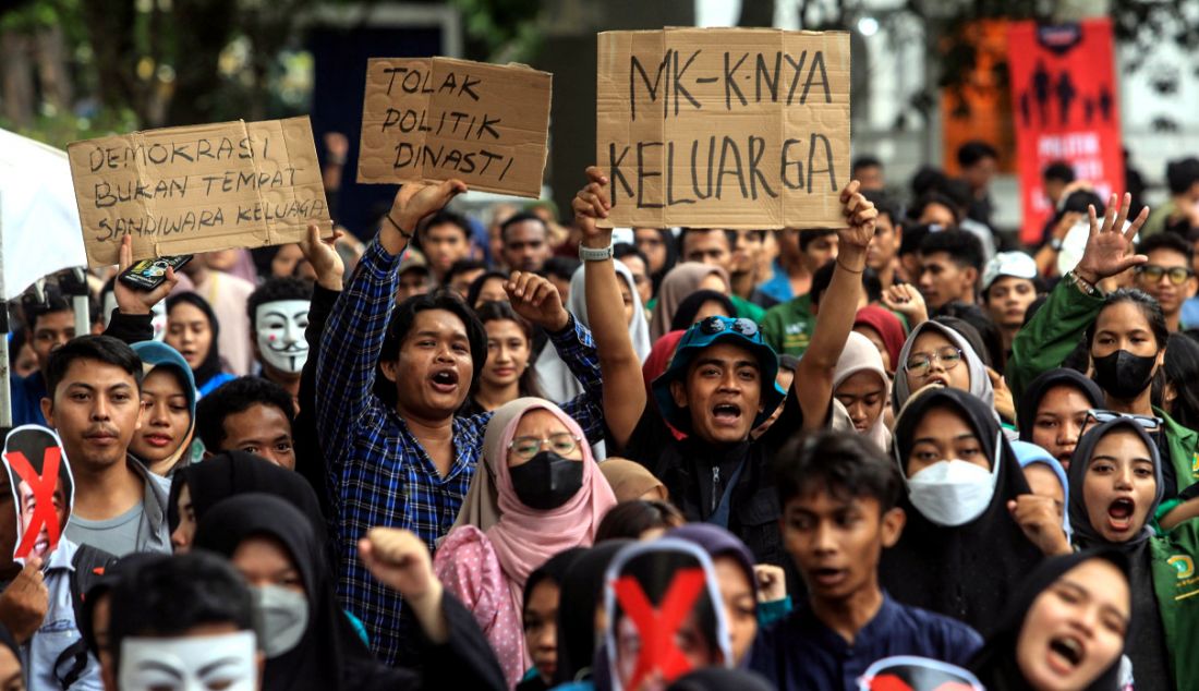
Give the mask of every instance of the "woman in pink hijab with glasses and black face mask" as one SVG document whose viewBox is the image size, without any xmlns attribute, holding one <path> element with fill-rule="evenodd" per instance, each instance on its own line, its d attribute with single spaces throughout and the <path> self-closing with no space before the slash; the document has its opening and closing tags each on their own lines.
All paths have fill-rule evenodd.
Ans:
<svg viewBox="0 0 1199 691">
<path fill-rule="evenodd" d="M 529 575 L 571 547 L 590 547 L 616 504 L 579 425 L 542 398 L 501 405 L 483 463 L 433 560 L 447 591 L 475 614 L 516 686 L 529 668 L 522 626 Z"/>
</svg>

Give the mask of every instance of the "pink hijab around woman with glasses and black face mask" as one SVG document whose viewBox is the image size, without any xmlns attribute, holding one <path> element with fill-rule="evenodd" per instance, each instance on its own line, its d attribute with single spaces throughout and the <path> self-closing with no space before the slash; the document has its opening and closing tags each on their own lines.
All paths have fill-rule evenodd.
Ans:
<svg viewBox="0 0 1199 691">
<path fill-rule="evenodd" d="M 566 504 L 538 511 L 520 503 L 508 475 L 508 444 L 530 410 L 549 410 L 572 434 L 582 439 L 583 487 Z M 483 434 L 483 467 L 466 492 L 454 527 L 475 525 L 495 548 L 520 612 L 525 579 L 550 557 L 571 547 L 590 547 L 600 519 L 616 505 L 616 497 L 600 471 L 586 435 L 570 415 L 544 398 L 517 398 L 492 416 Z"/>
</svg>

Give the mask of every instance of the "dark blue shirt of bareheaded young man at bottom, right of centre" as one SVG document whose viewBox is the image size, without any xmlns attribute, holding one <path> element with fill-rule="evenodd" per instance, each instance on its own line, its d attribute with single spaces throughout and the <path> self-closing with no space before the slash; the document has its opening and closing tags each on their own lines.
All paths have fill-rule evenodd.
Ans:
<svg viewBox="0 0 1199 691">
<path fill-rule="evenodd" d="M 857 678 L 872 662 L 892 655 L 918 655 L 965 666 L 982 647 L 982 637 L 965 624 L 882 594 L 882 607 L 846 643 L 817 619 L 805 603 L 777 626 L 760 632 L 749 668 L 781 691 L 857 691 Z"/>
</svg>

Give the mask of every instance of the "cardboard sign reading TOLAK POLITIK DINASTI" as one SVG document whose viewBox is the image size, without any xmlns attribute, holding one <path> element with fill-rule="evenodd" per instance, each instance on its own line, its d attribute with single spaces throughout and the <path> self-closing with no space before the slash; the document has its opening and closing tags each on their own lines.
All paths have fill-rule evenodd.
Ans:
<svg viewBox="0 0 1199 691">
<path fill-rule="evenodd" d="M 540 197 L 552 76 L 448 58 L 367 64 L 359 182 L 458 178 Z"/>
</svg>

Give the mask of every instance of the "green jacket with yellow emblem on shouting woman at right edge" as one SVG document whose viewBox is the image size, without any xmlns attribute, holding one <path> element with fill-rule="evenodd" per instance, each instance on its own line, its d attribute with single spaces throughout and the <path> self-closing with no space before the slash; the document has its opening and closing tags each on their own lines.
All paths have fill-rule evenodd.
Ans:
<svg viewBox="0 0 1199 691">
<path fill-rule="evenodd" d="M 1164 516 L 1176 504 L 1176 500 L 1163 504 L 1157 516 Z M 1169 533 L 1151 537 L 1150 555 L 1170 668 L 1175 685 L 1187 689 L 1199 679 L 1199 657 L 1194 654 L 1199 650 L 1199 572 L 1195 571 L 1199 521 L 1186 521 Z"/>
</svg>

